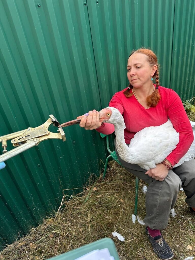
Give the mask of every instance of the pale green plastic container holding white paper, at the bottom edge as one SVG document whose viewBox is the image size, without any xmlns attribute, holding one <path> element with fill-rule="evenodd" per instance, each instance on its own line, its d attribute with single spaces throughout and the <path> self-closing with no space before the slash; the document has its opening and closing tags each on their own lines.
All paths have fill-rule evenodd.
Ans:
<svg viewBox="0 0 195 260">
<path fill-rule="evenodd" d="M 103 248 L 108 248 L 110 255 L 113 256 L 115 260 L 120 260 L 116 251 L 115 244 L 111 238 L 102 238 L 98 241 L 81 246 L 80 248 L 76 248 L 60 256 L 49 258 L 49 260 L 75 260 L 76 258 L 83 256 L 93 250 Z"/>
</svg>

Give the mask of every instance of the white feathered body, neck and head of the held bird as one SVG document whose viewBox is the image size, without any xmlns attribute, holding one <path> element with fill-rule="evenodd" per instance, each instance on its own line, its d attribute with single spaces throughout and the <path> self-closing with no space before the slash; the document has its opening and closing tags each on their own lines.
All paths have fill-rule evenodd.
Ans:
<svg viewBox="0 0 195 260">
<path fill-rule="evenodd" d="M 136 133 L 128 147 L 124 138 L 125 123 L 119 110 L 107 107 L 99 113 L 102 122 L 114 125 L 116 149 L 120 158 L 126 162 L 138 164 L 146 170 L 155 168 L 156 164 L 163 161 L 176 148 L 179 142 L 179 133 L 176 132 L 171 121 L 168 120 L 160 126 L 146 127 Z M 195 122 L 192 123 L 195 126 Z M 195 129 L 193 133 L 195 136 Z M 193 141 L 188 152 L 174 167 L 181 165 L 184 161 L 190 160 L 193 157 L 195 157 L 195 141 Z"/>
</svg>

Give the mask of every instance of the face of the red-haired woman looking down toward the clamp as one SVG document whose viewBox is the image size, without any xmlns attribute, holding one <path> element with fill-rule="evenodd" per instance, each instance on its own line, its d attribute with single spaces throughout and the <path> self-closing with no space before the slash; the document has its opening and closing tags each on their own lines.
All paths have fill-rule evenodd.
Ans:
<svg viewBox="0 0 195 260">
<path fill-rule="evenodd" d="M 135 88 L 151 84 L 151 77 L 156 70 L 157 66 L 151 67 L 145 54 L 134 53 L 128 59 L 127 78 Z"/>
</svg>

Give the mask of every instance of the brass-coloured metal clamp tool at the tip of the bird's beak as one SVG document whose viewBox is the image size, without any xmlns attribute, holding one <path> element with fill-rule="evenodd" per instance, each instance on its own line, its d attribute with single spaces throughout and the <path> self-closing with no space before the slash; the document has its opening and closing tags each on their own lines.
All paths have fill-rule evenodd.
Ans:
<svg viewBox="0 0 195 260">
<path fill-rule="evenodd" d="M 58 127 L 58 133 L 48 131 L 51 124 Z M 0 155 L 0 162 L 6 161 L 48 139 L 62 139 L 62 141 L 66 141 L 61 125 L 53 115 L 49 115 L 49 119 L 45 123 L 35 128 L 29 127 L 22 131 L 0 136 L 3 148 L 3 154 Z M 13 146 L 16 147 L 9 152 L 6 149 L 8 140 L 11 140 Z"/>
</svg>

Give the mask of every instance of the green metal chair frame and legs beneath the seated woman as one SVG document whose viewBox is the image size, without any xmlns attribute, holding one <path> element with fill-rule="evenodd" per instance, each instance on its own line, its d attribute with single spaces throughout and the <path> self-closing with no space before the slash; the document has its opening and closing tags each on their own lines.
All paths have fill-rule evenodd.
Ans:
<svg viewBox="0 0 195 260">
<path fill-rule="evenodd" d="M 104 138 L 106 136 L 106 147 L 107 147 L 107 150 L 109 152 L 109 155 L 108 157 L 106 158 L 106 163 L 105 163 L 105 167 L 104 167 L 104 172 L 103 172 L 103 178 L 105 178 L 105 175 L 106 175 L 106 169 L 107 169 L 107 166 L 108 166 L 108 160 L 110 158 L 113 158 L 116 162 L 118 162 L 118 164 L 120 164 L 122 166 L 122 164 L 120 163 L 120 161 L 118 160 L 118 157 L 116 155 L 116 152 L 115 151 L 111 151 L 110 148 L 109 148 L 109 139 L 108 139 L 108 135 L 106 134 L 102 134 L 100 133 L 100 136 L 102 138 Z M 138 188 L 139 188 L 139 178 L 136 177 L 136 181 L 135 181 L 135 208 L 134 208 L 134 215 L 137 216 L 137 211 L 138 211 Z"/>
</svg>

